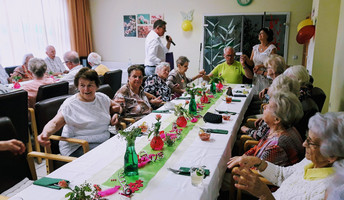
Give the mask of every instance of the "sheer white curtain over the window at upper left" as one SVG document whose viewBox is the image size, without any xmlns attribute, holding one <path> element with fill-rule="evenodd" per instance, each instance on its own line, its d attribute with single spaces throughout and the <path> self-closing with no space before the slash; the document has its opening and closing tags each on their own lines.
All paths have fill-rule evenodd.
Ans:
<svg viewBox="0 0 344 200">
<path fill-rule="evenodd" d="M 66 0 L 1 0 L 0 64 L 21 65 L 24 54 L 45 58 L 53 45 L 56 55 L 71 49 Z"/>
</svg>

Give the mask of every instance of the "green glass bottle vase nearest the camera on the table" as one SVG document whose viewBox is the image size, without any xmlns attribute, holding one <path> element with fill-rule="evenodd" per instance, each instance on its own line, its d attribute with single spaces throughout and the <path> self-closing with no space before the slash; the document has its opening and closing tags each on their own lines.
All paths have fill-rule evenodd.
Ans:
<svg viewBox="0 0 344 200">
<path fill-rule="evenodd" d="M 127 142 L 127 150 L 124 154 L 124 174 L 126 176 L 139 175 L 138 159 L 135 151 L 135 140 Z"/>
</svg>

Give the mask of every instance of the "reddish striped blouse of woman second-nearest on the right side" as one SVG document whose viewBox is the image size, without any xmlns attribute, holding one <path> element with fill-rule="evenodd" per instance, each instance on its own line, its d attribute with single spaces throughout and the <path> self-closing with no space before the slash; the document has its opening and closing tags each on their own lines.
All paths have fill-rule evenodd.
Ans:
<svg viewBox="0 0 344 200">
<path fill-rule="evenodd" d="M 299 132 L 292 127 L 272 137 L 266 134 L 245 155 L 256 156 L 279 166 L 289 166 L 302 159 L 304 148 Z"/>
</svg>

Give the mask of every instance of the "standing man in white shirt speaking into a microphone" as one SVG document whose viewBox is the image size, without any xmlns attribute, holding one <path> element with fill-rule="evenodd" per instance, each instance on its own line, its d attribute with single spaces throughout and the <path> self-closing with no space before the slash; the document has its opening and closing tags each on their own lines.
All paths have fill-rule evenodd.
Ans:
<svg viewBox="0 0 344 200">
<path fill-rule="evenodd" d="M 170 36 L 166 36 L 167 44 L 164 46 L 160 37 L 166 32 L 166 22 L 159 19 L 154 22 L 153 30 L 149 32 L 145 42 L 145 74 L 146 76 L 155 74 L 155 67 L 165 61 L 166 53 L 173 43 Z M 174 44 L 175 45 L 175 44 Z"/>
</svg>

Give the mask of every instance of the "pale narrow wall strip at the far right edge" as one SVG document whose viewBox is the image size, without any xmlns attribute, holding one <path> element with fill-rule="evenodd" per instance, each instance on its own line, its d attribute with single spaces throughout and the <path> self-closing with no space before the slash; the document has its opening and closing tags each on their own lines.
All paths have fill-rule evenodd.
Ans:
<svg viewBox="0 0 344 200">
<path fill-rule="evenodd" d="M 344 111 L 344 0 L 340 4 L 329 111 Z"/>
</svg>

